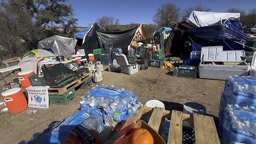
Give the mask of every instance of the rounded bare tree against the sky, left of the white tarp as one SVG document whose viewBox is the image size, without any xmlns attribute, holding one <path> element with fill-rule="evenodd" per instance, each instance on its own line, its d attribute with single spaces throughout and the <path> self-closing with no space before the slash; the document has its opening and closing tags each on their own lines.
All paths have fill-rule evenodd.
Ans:
<svg viewBox="0 0 256 144">
<path fill-rule="evenodd" d="M 180 7 L 172 3 L 163 4 L 158 8 L 153 21 L 161 27 L 172 27 L 180 20 Z"/>
</svg>

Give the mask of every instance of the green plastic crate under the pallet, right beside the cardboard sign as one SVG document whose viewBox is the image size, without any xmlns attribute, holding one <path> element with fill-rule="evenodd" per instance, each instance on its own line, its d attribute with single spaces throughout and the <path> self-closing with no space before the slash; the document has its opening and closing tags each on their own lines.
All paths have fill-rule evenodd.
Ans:
<svg viewBox="0 0 256 144">
<path fill-rule="evenodd" d="M 76 97 L 75 89 L 72 89 L 62 95 L 49 94 L 50 104 L 52 105 L 68 105 L 71 100 Z"/>
</svg>

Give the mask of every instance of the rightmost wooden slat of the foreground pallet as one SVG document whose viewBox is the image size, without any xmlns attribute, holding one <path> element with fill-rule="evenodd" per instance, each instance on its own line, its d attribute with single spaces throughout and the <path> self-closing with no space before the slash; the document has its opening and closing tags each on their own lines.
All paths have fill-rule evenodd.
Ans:
<svg viewBox="0 0 256 144">
<path fill-rule="evenodd" d="M 220 143 L 213 117 L 194 114 L 196 143 Z"/>
</svg>

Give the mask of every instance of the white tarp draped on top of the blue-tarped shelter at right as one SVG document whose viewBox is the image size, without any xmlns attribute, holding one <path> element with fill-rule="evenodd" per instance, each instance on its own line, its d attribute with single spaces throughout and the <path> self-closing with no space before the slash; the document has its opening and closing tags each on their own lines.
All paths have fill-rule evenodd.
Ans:
<svg viewBox="0 0 256 144">
<path fill-rule="evenodd" d="M 205 27 L 212 25 L 222 25 L 221 20 L 239 19 L 240 13 L 221 13 L 221 12 L 199 12 L 193 11 L 186 17 L 182 18 L 181 22 L 193 23 L 197 27 Z"/>
</svg>

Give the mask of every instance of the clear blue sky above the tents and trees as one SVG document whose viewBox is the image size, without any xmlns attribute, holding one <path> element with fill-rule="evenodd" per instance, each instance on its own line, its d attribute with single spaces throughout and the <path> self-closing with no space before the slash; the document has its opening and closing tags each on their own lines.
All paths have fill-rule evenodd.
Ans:
<svg viewBox="0 0 256 144">
<path fill-rule="evenodd" d="M 120 20 L 121 25 L 132 23 L 153 24 L 153 17 L 162 4 L 172 3 L 181 9 L 201 4 L 210 7 L 212 12 L 226 12 L 236 8 L 248 12 L 256 8 L 256 0 L 69 0 L 73 6 L 77 26 L 88 27 L 103 16 Z"/>
</svg>

